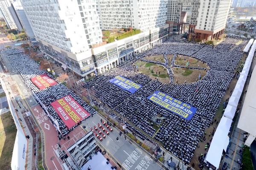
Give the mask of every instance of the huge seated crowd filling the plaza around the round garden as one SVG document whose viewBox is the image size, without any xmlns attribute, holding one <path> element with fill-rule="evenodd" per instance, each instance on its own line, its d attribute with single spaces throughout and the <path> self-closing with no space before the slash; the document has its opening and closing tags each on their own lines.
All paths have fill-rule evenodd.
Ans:
<svg viewBox="0 0 256 170">
<path fill-rule="evenodd" d="M 110 106 L 113 111 L 121 113 L 126 119 L 144 131 L 145 134 L 154 136 L 155 139 L 163 142 L 164 147 L 175 156 L 181 159 L 183 155 L 183 160 L 189 163 L 195 148 L 198 146 L 198 142 L 204 135 L 204 130 L 211 124 L 221 100 L 235 75 L 235 68 L 243 56 L 243 52 L 237 51 L 238 48 L 236 46 L 230 50 L 230 47 L 233 47 L 236 42 L 236 40 L 228 40 L 228 43 L 224 42 L 217 49 L 210 45 L 185 42 L 183 40 L 167 40 L 128 62 L 122 63 L 118 68 L 114 68 L 92 79 L 90 82 L 86 82 L 83 87 L 88 88 L 93 93 L 96 92 L 95 96 L 102 102 L 104 101 L 103 103 Z M 220 50 L 219 48 L 222 49 Z M 239 46 L 239 48 L 241 49 L 242 47 Z M 182 85 L 164 84 L 156 79 L 151 79 L 147 75 L 138 73 L 135 66 L 131 69 L 131 65 L 137 59 L 160 54 L 163 54 L 164 57 L 167 54 L 191 56 L 206 62 L 210 69 L 200 81 Z M 174 60 L 171 64 L 173 62 Z M 163 63 L 161 64 L 163 65 Z M 116 75 L 131 79 L 143 85 L 143 87 L 131 94 L 108 81 Z M 170 75 L 172 76 L 172 74 Z M 99 88 L 105 87 L 106 84 L 108 88 Z M 148 100 L 147 97 L 157 90 L 197 108 L 192 119 L 189 121 L 183 119 Z M 151 119 L 156 115 L 165 117 L 165 121 L 161 124 L 157 133 L 151 123 Z M 131 130 L 136 135 L 135 128 L 131 128 L 131 125 L 127 122 L 126 125 L 128 130 Z M 139 133 L 137 136 L 142 139 L 149 139 L 149 137 Z"/>
</svg>

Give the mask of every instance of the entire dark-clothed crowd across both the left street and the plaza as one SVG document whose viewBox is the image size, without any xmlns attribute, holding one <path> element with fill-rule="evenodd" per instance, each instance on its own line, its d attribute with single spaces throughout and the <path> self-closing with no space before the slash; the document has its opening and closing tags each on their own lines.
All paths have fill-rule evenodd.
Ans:
<svg viewBox="0 0 256 170">
<path fill-rule="evenodd" d="M 237 64 L 243 57 L 244 53 L 241 52 L 241 48 L 246 44 L 246 41 L 242 41 L 240 44 L 236 45 L 238 42 L 239 40 L 226 38 L 221 44 L 213 47 L 212 45 L 169 39 L 139 54 L 137 57 L 133 57 L 127 62 L 121 63 L 111 71 L 84 82 L 82 87 L 85 90 L 88 89 L 94 98 L 102 102 L 99 103 L 93 99 L 94 102 L 97 102 L 97 105 L 103 105 L 103 107 L 108 106 L 111 113 L 116 111 L 122 114 L 125 119 L 139 127 L 145 134 L 148 134 L 147 136 L 141 133 L 141 131 L 134 128 L 133 125 L 125 122 L 128 130 L 135 136 L 151 142 L 153 142 L 153 140 L 151 140 L 149 136 L 157 139 L 159 142 L 163 143 L 166 150 L 169 150 L 173 155 L 182 159 L 185 164 L 189 164 L 196 147 L 198 147 L 198 142 L 202 136 L 204 136 L 205 129 L 212 123 L 221 100 L 231 80 L 235 76 Z M 30 59 L 27 55 L 20 54 L 17 50 L 12 51 L 12 49 L 7 49 L 6 54 L 11 56 L 10 59 L 12 59 L 15 67 L 20 72 L 23 82 L 25 82 L 34 96 L 37 96 L 36 99 L 40 105 L 45 105 L 47 112 L 54 119 L 57 119 L 64 135 L 69 133 L 72 129 L 68 129 L 65 126 L 60 116 L 50 105 L 52 102 L 70 94 L 88 113 L 96 113 L 90 105 L 61 83 L 44 90 L 39 90 L 38 87 L 32 83 L 32 77 L 41 74 L 47 74 L 52 79 L 54 79 L 54 77 L 46 71 L 40 70 L 38 63 Z M 167 68 L 171 80 L 169 84 L 165 84 L 140 73 L 137 71 L 136 66 L 133 65 L 137 59 L 143 60 L 144 57 L 160 54 L 163 54 L 165 62 L 157 64 Z M 171 63 L 169 63 L 166 58 L 167 54 L 174 54 L 175 56 Z M 201 60 L 207 63 L 210 69 L 200 81 L 180 85 L 174 84 L 171 68 L 177 54 Z M 134 94 L 131 94 L 129 91 L 125 91 L 109 81 L 118 75 L 130 79 L 143 87 L 138 89 Z M 191 120 L 183 119 L 177 114 L 147 99 L 154 91 L 161 91 L 184 103 L 188 103 L 197 108 L 197 111 Z M 164 117 L 164 121 L 161 123 L 159 130 L 152 126 L 152 118 L 154 116 Z M 72 128 L 75 127 L 76 126 Z"/>
</svg>

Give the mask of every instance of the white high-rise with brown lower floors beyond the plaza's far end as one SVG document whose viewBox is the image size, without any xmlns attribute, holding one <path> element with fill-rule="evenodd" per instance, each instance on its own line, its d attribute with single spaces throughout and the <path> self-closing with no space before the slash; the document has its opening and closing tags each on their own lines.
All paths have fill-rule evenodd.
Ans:
<svg viewBox="0 0 256 170">
<path fill-rule="evenodd" d="M 224 33 L 231 0 L 169 0 L 167 20 L 174 21 L 174 31 L 186 26 L 196 39 L 217 39 Z"/>
</svg>

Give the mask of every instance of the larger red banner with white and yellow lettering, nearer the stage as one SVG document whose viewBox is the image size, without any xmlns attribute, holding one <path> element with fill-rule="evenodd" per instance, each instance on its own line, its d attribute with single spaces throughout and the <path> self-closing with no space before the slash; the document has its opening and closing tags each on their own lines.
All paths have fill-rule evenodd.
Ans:
<svg viewBox="0 0 256 170">
<path fill-rule="evenodd" d="M 90 116 L 70 95 L 52 102 L 51 105 L 69 129 Z"/>
</svg>

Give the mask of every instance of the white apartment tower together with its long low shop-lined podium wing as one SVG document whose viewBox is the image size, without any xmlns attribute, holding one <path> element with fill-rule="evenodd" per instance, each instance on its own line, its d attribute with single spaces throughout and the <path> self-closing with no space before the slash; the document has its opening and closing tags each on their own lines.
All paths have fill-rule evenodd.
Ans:
<svg viewBox="0 0 256 170">
<path fill-rule="evenodd" d="M 110 69 L 115 62 L 118 65 L 159 44 L 169 33 L 169 25 L 161 19 L 161 27 L 93 48 L 102 43 L 98 1 L 21 0 L 21 3 L 41 49 L 64 69 L 69 68 L 81 77 L 95 71 L 102 73 L 107 66 Z"/>
</svg>

